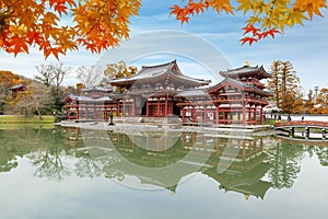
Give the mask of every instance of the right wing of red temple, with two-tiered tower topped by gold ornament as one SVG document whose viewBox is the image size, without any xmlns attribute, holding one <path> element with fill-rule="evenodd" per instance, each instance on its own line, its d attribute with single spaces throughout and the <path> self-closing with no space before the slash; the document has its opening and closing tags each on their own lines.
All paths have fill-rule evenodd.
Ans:
<svg viewBox="0 0 328 219">
<path fill-rule="evenodd" d="M 224 80 L 220 83 L 197 90 L 186 90 L 175 97 L 180 99 L 183 123 L 213 123 L 261 125 L 267 97 L 272 94 L 265 91 L 261 79 L 271 78 L 263 67 L 245 66 L 220 71 Z"/>
</svg>

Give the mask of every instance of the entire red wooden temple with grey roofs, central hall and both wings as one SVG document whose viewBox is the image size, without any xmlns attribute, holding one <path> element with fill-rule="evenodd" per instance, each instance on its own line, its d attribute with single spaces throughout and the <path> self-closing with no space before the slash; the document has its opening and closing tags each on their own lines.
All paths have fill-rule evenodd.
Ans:
<svg viewBox="0 0 328 219">
<path fill-rule="evenodd" d="M 185 76 L 176 60 L 142 66 L 134 76 L 108 81 L 122 93 L 90 88 L 80 96 L 69 95 L 65 100 L 68 119 L 106 119 L 110 113 L 122 117 L 177 116 L 191 124 L 261 125 L 271 93 L 260 80 L 271 74 L 248 64 L 219 73 L 224 80 L 208 87 L 210 80 Z"/>
</svg>

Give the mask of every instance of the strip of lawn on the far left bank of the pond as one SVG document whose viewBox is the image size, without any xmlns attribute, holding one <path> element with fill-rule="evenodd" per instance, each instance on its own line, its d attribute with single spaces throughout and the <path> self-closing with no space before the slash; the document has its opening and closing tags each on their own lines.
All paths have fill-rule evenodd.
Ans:
<svg viewBox="0 0 328 219">
<path fill-rule="evenodd" d="M 0 124 L 54 124 L 54 116 L 43 116 L 40 120 L 38 116 L 19 116 L 19 115 L 1 115 Z"/>
</svg>

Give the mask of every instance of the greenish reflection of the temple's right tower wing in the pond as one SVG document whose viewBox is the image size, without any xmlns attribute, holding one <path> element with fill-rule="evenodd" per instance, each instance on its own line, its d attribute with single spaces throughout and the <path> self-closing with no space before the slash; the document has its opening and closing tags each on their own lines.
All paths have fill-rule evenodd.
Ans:
<svg viewBox="0 0 328 219">
<path fill-rule="evenodd" d="M 195 134 L 183 135 L 181 138 L 189 147 L 195 145 Z M 219 182 L 220 189 L 242 193 L 246 198 L 250 195 L 263 198 L 271 186 L 271 183 L 261 180 L 271 168 L 266 162 L 268 155 L 263 151 L 263 138 L 202 138 L 204 143 L 209 139 L 212 139 L 215 152 L 207 162 L 210 168 L 202 173 Z"/>
</svg>

